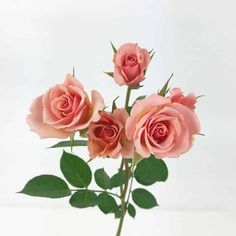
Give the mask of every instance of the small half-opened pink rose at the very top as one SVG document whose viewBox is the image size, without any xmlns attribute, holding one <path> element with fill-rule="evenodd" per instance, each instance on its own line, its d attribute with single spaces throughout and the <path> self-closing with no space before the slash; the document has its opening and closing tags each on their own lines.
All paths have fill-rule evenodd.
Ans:
<svg viewBox="0 0 236 236">
<path fill-rule="evenodd" d="M 114 80 L 119 85 L 139 85 L 150 62 L 150 54 L 138 44 L 122 45 L 114 55 Z"/>
</svg>

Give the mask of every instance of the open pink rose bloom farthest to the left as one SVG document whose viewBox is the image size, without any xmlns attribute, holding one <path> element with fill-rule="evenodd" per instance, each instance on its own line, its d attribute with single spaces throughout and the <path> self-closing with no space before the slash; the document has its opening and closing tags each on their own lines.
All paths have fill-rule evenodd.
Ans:
<svg viewBox="0 0 236 236">
<path fill-rule="evenodd" d="M 97 121 L 103 108 L 103 98 L 97 91 L 92 91 L 90 102 L 81 83 L 68 74 L 63 84 L 34 100 L 27 123 L 41 138 L 66 138 Z"/>
</svg>

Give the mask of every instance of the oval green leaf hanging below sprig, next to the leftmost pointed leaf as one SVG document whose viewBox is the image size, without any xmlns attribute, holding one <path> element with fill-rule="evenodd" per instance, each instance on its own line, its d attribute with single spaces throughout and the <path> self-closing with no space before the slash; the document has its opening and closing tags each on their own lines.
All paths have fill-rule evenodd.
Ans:
<svg viewBox="0 0 236 236">
<path fill-rule="evenodd" d="M 94 207 L 97 203 L 97 195 L 89 190 L 79 190 L 70 198 L 71 206 L 77 208 Z"/>
</svg>

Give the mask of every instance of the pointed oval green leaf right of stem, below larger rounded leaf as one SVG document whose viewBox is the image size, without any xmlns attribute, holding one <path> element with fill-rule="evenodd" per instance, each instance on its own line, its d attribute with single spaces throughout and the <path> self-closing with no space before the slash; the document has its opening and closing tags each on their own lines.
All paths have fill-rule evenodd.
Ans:
<svg viewBox="0 0 236 236">
<path fill-rule="evenodd" d="M 137 188 L 132 192 L 134 203 L 144 209 L 150 209 L 158 206 L 156 198 L 146 189 Z"/>
</svg>

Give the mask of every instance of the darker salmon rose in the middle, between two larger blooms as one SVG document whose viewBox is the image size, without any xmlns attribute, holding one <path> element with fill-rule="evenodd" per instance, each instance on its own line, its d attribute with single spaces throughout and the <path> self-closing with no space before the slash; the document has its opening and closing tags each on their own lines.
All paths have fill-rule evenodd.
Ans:
<svg viewBox="0 0 236 236">
<path fill-rule="evenodd" d="M 100 112 L 100 120 L 91 122 L 88 129 L 88 149 L 91 158 L 112 157 L 132 158 L 133 142 L 125 135 L 128 113 L 116 109 L 113 113 Z"/>
</svg>

